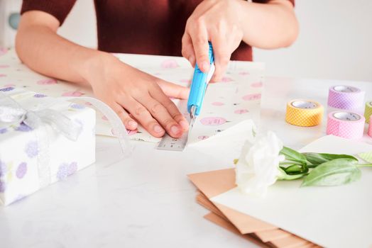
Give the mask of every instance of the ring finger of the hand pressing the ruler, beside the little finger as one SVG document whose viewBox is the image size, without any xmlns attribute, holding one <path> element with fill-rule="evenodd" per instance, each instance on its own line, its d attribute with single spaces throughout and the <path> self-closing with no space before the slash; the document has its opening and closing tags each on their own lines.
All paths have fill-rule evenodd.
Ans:
<svg viewBox="0 0 372 248">
<path fill-rule="evenodd" d="M 143 100 L 148 101 L 148 98 L 144 98 Z M 121 106 L 126 108 L 126 110 L 128 110 L 129 113 L 131 113 L 131 115 L 141 123 L 141 125 L 143 125 L 143 128 L 145 128 L 148 133 L 155 137 L 162 137 L 164 135 L 164 129 L 141 103 L 138 103 L 138 101 L 131 97 L 122 98 L 119 103 Z"/>
</svg>

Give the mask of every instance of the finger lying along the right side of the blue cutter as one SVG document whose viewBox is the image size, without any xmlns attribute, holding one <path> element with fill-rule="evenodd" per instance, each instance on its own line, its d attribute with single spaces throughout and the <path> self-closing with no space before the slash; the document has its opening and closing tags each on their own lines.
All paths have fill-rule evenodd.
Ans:
<svg viewBox="0 0 372 248">
<path fill-rule="evenodd" d="M 231 52 L 229 51 L 228 41 L 223 34 L 214 34 L 211 37 L 214 53 L 214 65 L 216 70 L 212 77 L 212 81 L 221 81 L 229 64 Z"/>
</svg>

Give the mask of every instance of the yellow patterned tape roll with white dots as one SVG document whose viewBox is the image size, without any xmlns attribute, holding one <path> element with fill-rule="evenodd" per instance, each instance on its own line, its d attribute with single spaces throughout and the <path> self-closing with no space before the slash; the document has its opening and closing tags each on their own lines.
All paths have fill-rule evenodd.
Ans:
<svg viewBox="0 0 372 248">
<path fill-rule="evenodd" d="M 285 120 L 300 127 L 312 127 L 322 122 L 324 108 L 316 101 L 292 100 L 287 103 Z"/>
</svg>

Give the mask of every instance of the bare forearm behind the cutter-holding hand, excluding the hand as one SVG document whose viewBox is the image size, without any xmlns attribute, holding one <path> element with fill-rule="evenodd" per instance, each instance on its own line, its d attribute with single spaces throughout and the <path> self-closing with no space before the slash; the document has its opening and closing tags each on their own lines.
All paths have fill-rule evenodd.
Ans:
<svg viewBox="0 0 372 248">
<path fill-rule="evenodd" d="M 297 19 L 288 0 L 268 4 L 241 1 L 241 27 L 244 42 L 263 49 L 287 47 L 298 35 Z"/>
</svg>

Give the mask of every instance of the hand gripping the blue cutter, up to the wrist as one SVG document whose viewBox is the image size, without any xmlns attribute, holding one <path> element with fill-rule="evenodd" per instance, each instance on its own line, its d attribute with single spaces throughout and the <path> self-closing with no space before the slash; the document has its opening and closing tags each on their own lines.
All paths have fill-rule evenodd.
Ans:
<svg viewBox="0 0 372 248">
<path fill-rule="evenodd" d="M 204 0 L 187 20 L 182 56 L 202 72 L 209 71 L 208 41 L 212 42 L 216 70 L 212 81 L 223 76 L 232 52 L 243 38 L 241 0 Z"/>
</svg>

